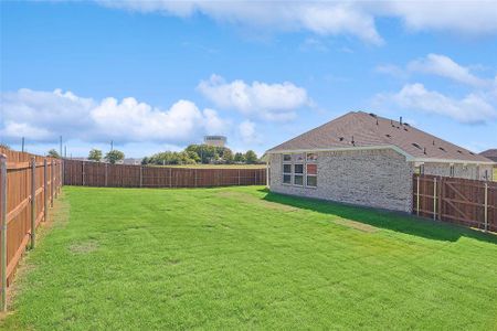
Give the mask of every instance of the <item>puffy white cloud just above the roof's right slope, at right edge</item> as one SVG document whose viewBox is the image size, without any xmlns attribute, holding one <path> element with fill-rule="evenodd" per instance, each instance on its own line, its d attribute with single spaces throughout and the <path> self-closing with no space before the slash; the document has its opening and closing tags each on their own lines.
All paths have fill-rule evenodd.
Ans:
<svg viewBox="0 0 497 331">
<path fill-rule="evenodd" d="M 427 90 L 419 83 L 408 84 L 395 94 L 378 95 L 377 103 L 447 116 L 465 124 L 488 122 L 497 118 L 497 110 L 482 95 L 468 94 L 464 98 L 456 99 L 438 92 Z"/>
</svg>

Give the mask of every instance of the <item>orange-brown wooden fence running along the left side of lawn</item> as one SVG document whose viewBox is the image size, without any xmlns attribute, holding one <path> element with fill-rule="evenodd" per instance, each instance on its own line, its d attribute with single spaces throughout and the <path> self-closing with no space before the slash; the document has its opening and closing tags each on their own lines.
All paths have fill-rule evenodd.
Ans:
<svg viewBox="0 0 497 331">
<path fill-rule="evenodd" d="M 28 245 L 34 248 L 35 229 L 47 220 L 49 205 L 60 194 L 61 160 L 0 148 L 0 270 L 1 309 L 7 287 Z"/>
</svg>

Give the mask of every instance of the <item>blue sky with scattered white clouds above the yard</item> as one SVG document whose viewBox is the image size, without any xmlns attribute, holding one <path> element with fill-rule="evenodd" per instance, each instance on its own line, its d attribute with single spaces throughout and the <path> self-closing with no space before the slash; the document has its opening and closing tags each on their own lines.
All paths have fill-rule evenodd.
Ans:
<svg viewBox="0 0 497 331">
<path fill-rule="evenodd" d="M 497 148 L 495 1 L 1 1 L 0 141 L 262 154 L 348 111 Z"/>
</svg>

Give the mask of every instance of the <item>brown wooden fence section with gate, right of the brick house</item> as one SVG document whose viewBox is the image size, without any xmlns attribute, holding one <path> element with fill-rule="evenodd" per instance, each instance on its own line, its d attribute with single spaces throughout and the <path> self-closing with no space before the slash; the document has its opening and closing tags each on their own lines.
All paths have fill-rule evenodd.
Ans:
<svg viewBox="0 0 497 331">
<path fill-rule="evenodd" d="M 497 183 L 415 174 L 413 213 L 497 232 Z"/>
</svg>

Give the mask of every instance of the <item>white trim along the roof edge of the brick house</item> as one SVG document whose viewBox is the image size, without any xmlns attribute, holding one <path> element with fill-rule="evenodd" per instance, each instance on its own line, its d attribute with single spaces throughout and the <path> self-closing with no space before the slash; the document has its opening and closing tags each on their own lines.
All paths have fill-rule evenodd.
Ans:
<svg viewBox="0 0 497 331">
<path fill-rule="evenodd" d="M 473 161 L 473 160 L 455 160 L 455 159 L 435 159 L 435 158 L 415 158 L 403 149 L 395 145 L 379 145 L 379 146 L 357 146 L 357 147 L 337 147 L 337 148 L 310 148 L 310 149 L 295 149 L 295 150 L 269 150 L 267 154 L 292 154 L 303 152 L 325 152 L 325 151 L 355 151 L 355 150 L 379 150 L 379 149 L 392 149 L 405 157 L 408 162 L 425 162 L 425 163 L 469 163 L 482 166 L 495 166 L 496 162 L 487 161 Z"/>
</svg>

